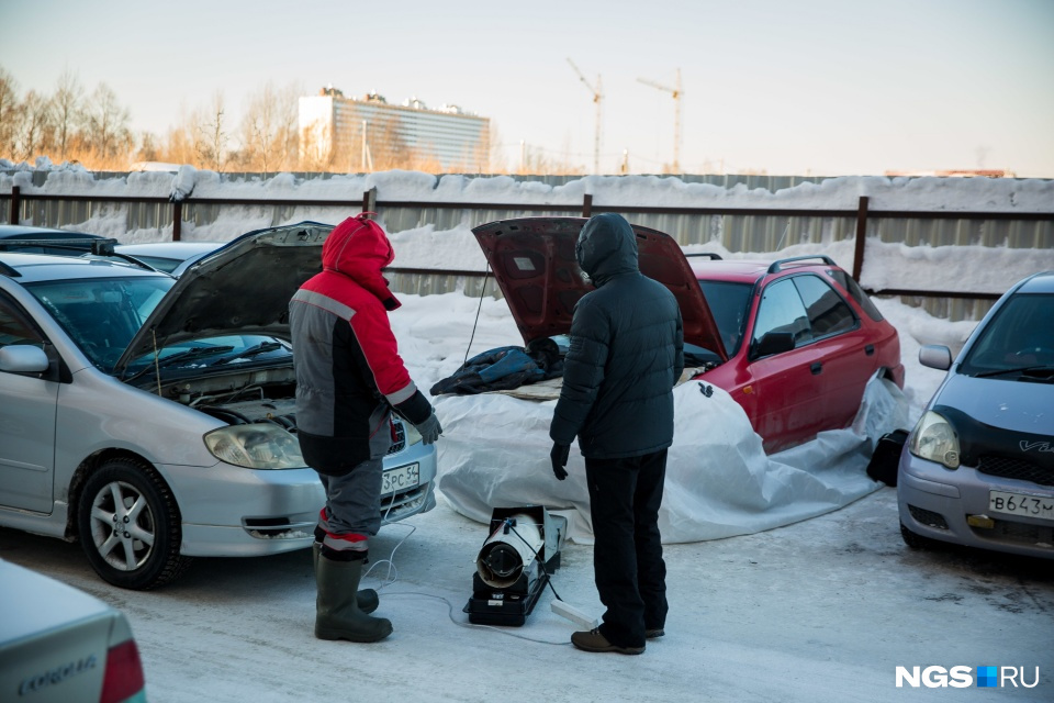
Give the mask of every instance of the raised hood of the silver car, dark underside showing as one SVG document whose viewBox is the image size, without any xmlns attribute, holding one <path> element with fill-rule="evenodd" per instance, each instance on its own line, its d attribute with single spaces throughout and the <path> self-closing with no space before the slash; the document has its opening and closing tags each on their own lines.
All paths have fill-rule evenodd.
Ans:
<svg viewBox="0 0 1054 703">
<path fill-rule="evenodd" d="M 289 339 L 289 300 L 322 270 L 333 225 L 301 222 L 243 234 L 176 281 L 117 359 L 121 377 L 144 354 L 201 337 L 267 334 Z"/>
</svg>

